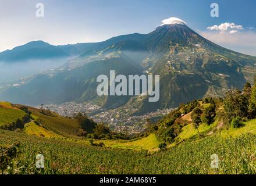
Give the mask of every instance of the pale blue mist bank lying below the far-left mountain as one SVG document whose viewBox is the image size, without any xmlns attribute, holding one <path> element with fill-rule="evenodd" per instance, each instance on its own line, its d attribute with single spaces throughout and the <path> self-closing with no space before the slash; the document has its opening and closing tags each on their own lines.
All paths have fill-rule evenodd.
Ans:
<svg viewBox="0 0 256 186">
<path fill-rule="evenodd" d="M 27 60 L 22 62 L 0 62 L 0 83 L 55 69 L 67 62 L 67 58 L 49 60 Z"/>
</svg>

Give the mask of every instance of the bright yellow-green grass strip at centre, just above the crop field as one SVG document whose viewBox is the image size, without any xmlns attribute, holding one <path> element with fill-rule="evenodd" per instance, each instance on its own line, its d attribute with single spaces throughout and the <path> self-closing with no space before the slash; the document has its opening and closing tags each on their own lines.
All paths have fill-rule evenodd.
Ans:
<svg viewBox="0 0 256 186">
<path fill-rule="evenodd" d="M 97 140 L 95 143 L 103 142 L 105 146 L 122 149 L 151 150 L 158 148 L 159 141 L 155 134 L 150 134 L 140 140 Z"/>
</svg>

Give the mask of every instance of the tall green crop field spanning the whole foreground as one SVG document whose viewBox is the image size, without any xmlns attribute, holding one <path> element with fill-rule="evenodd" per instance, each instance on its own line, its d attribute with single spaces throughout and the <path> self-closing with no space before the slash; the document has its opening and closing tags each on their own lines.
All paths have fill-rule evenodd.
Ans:
<svg viewBox="0 0 256 186">
<path fill-rule="evenodd" d="M 19 131 L 0 130 L 0 146 L 19 142 L 17 158 L 9 174 L 255 174 L 256 136 L 220 138 L 217 135 L 183 142 L 167 151 L 97 147 L 39 138 Z M 72 147 L 72 148 L 71 148 Z M 45 169 L 36 169 L 35 156 L 45 158 Z M 211 168 L 211 155 L 218 155 L 219 169 Z"/>
</svg>

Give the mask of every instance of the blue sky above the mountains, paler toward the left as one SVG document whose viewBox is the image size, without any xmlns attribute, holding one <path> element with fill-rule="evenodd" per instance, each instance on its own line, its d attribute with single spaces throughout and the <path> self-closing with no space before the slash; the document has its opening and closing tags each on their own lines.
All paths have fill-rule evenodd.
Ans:
<svg viewBox="0 0 256 186">
<path fill-rule="evenodd" d="M 44 3 L 45 17 L 35 16 Z M 219 17 L 210 16 L 211 3 Z M 0 51 L 29 41 L 54 45 L 97 42 L 116 35 L 150 33 L 163 19 L 179 17 L 195 31 L 224 47 L 256 55 L 255 0 L 0 0 Z M 222 23 L 243 26 L 230 34 L 209 30 Z"/>
</svg>

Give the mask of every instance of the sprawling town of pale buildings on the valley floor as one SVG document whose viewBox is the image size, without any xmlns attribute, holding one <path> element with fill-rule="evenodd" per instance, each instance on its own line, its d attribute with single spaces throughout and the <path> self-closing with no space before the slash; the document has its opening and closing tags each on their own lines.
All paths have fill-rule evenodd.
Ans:
<svg viewBox="0 0 256 186">
<path fill-rule="evenodd" d="M 141 116 L 130 116 L 127 112 L 116 112 L 117 110 L 106 110 L 94 103 L 68 102 L 61 105 L 38 105 L 37 108 L 49 109 L 59 115 L 72 117 L 76 113 L 86 113 L 97 123 L 108 124 L 116 132 L 137 134 L 147 128 L 148 122 L 155 122 L 173 109 L 158 109 L 155 112 Z"/>
</svg>

